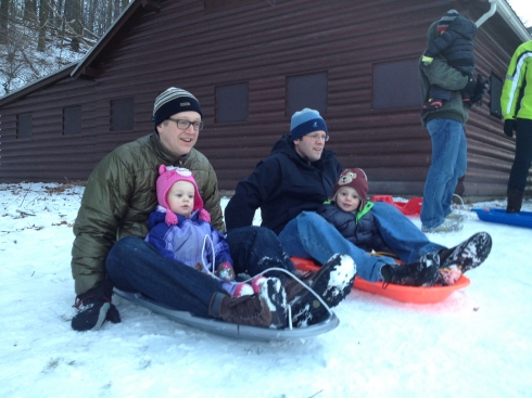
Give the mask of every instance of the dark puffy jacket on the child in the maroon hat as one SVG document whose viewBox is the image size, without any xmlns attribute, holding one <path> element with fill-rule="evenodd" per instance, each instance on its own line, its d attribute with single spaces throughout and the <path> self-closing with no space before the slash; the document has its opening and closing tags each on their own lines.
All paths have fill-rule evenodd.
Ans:
<svg viewBox="0 0 532 398">
<path fill-rule="evenodd" d="M 382 239 L 371 214 L 371 202 L 360 211 L 344 211 L 335 204 L 324 204 L 317 213 L 333 224 L 347 241 L 366 252 L 393 253 Z"/>
</svg>

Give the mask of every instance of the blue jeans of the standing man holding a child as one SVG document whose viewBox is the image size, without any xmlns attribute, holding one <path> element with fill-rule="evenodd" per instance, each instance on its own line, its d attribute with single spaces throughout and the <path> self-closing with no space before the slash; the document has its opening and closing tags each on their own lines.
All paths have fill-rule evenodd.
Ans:
<svg viewBox="0 0 532 398">
<path fill-rule="evenodd" d="M 466 174 L 467 141 L 461 123 L 433 119 L 427 124 L 432 140 L 432 164 L 427 175 L 421 206 L 421 223 L 440 226 L 451 213 L 458 179 Z"/>
</svg>

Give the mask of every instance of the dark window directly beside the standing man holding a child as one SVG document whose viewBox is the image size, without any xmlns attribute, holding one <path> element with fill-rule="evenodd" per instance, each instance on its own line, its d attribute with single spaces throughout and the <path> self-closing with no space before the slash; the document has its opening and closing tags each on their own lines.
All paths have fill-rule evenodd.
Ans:
<svg viewBox="0 0 532 398">
<path fill-rule="evenodd" d="M 418 65 L 418 60 L 373 65 L 372 110 L 420 106 Z"/>
</svg>

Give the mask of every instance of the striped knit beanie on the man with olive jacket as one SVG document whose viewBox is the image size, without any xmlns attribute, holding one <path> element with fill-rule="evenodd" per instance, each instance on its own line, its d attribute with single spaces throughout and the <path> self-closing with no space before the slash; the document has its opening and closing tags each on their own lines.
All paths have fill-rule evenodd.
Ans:
<svg viewBox="0 0 532 398">
<path fill-rule="evenodd" d="M 155 132 L 157 132 L 157 126 L 168 119 L 168 117 L 176 113 L 187 111 L 194 111 L 198 112 L 200 116 L 203 116 L 200 102 L 187 90 L 170 87 L 161 93 L 153 104 Z"/>
</svg>

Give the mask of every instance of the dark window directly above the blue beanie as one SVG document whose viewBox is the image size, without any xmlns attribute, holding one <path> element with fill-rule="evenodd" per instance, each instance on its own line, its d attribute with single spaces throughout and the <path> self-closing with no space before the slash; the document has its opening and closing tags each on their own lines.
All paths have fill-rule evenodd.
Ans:
<svg viewBox="0 0 532 398">
<path fill-rule="evenodd" d="M 327 72 L 287 77 L 287 116 L 304 107 L 327 113 Z"/>
</svg>

